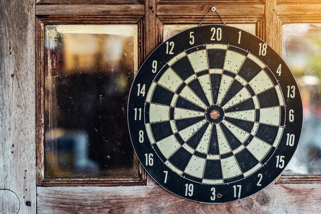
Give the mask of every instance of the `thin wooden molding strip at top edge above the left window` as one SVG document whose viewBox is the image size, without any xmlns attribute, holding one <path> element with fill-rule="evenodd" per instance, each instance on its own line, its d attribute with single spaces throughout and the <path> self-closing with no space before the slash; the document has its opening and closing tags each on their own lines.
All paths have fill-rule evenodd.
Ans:
<svg viewBox="0 0 321 214">
<path fill-rule="evenodd" d="M 37 5 L 123 5 L 143 4 L 140 0 L 36 0 Z"/>
</svg>

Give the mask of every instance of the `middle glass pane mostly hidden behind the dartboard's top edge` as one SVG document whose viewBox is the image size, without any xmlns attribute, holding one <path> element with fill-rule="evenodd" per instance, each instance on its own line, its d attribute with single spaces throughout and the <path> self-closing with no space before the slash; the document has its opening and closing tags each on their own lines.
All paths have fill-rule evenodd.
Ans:
<svg viewBox="0 0 321 214">
<path fill-rule="evenodd" d="M 164 25 L 163 26 L 163 40 L 166 41 L 173 35 L 179 33 L 180 31 L 186 30 L 188 28 L 196 27 L 195 24 L 175 24 L 175 25 Z M 253 35 L 256 35 L 256 24 L 255 23 L 238 23 L 238 24 L 229 24 L 231 27 L 236 27 L 242 30 L 245 30 Z"/>
</svg>

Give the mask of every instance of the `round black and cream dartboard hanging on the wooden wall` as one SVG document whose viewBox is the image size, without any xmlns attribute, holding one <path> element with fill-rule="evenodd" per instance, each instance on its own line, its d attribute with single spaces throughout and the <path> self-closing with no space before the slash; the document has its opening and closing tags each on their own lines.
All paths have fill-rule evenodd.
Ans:
<svg viewBox="0 0 321 214">
<path fill-rule="evenodd" d="M 299 141 L 295 79 L 258 37 L 194 27 L 159 45 L 128 103 L 131 140 L 150 176 L 177 196 L 224 203 L 273 182 Z"/>
</svg>

